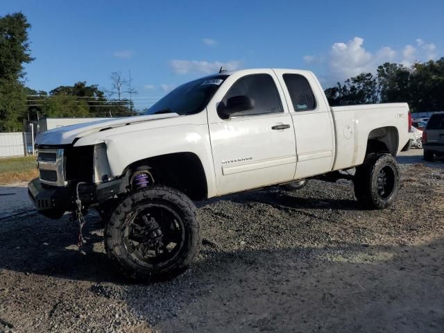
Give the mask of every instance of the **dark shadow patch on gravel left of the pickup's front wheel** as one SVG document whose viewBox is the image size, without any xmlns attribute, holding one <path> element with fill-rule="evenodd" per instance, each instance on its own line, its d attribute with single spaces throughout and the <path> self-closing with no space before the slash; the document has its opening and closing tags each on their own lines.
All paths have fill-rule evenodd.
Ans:
<svg viewBox="0 0 444 333">
<path fill-rule="evenodd" d="M 34 214 L 1 222 L 0 268 L 53 278 L 119 282 L 103 250 L 98 216 L 88 216 L 83 228 L 86 244 L 80 249 L 78 223 Z"/>
</svg>

